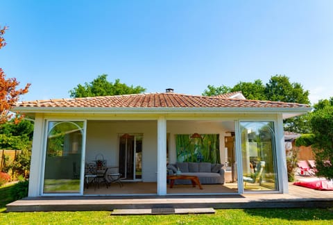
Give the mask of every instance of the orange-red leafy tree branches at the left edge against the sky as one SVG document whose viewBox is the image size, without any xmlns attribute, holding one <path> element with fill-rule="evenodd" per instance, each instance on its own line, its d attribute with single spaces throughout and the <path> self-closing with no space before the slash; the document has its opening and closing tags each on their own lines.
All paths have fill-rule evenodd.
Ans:
<svg viewBox="0 0 333 225">
<path fill-rule="evenodd" d="M 6 45 L 3 34 L 5 33 L 7 27 L 0 27 L 0 49 Z M 12 106 L 19 100 L 20 95 L 26 94 L 30 83 L 26 84 L 25 88 L 17 90 L 17 85 L 19 82 L 16 78 L 6 78 L 6 74 L 0 68 L 0 124 L 3 124 L 12 118 L 13 114 L 10 113 Z M 19 115 L 15 117 L 15 122 L 18 122 Z"/>
</svg>

